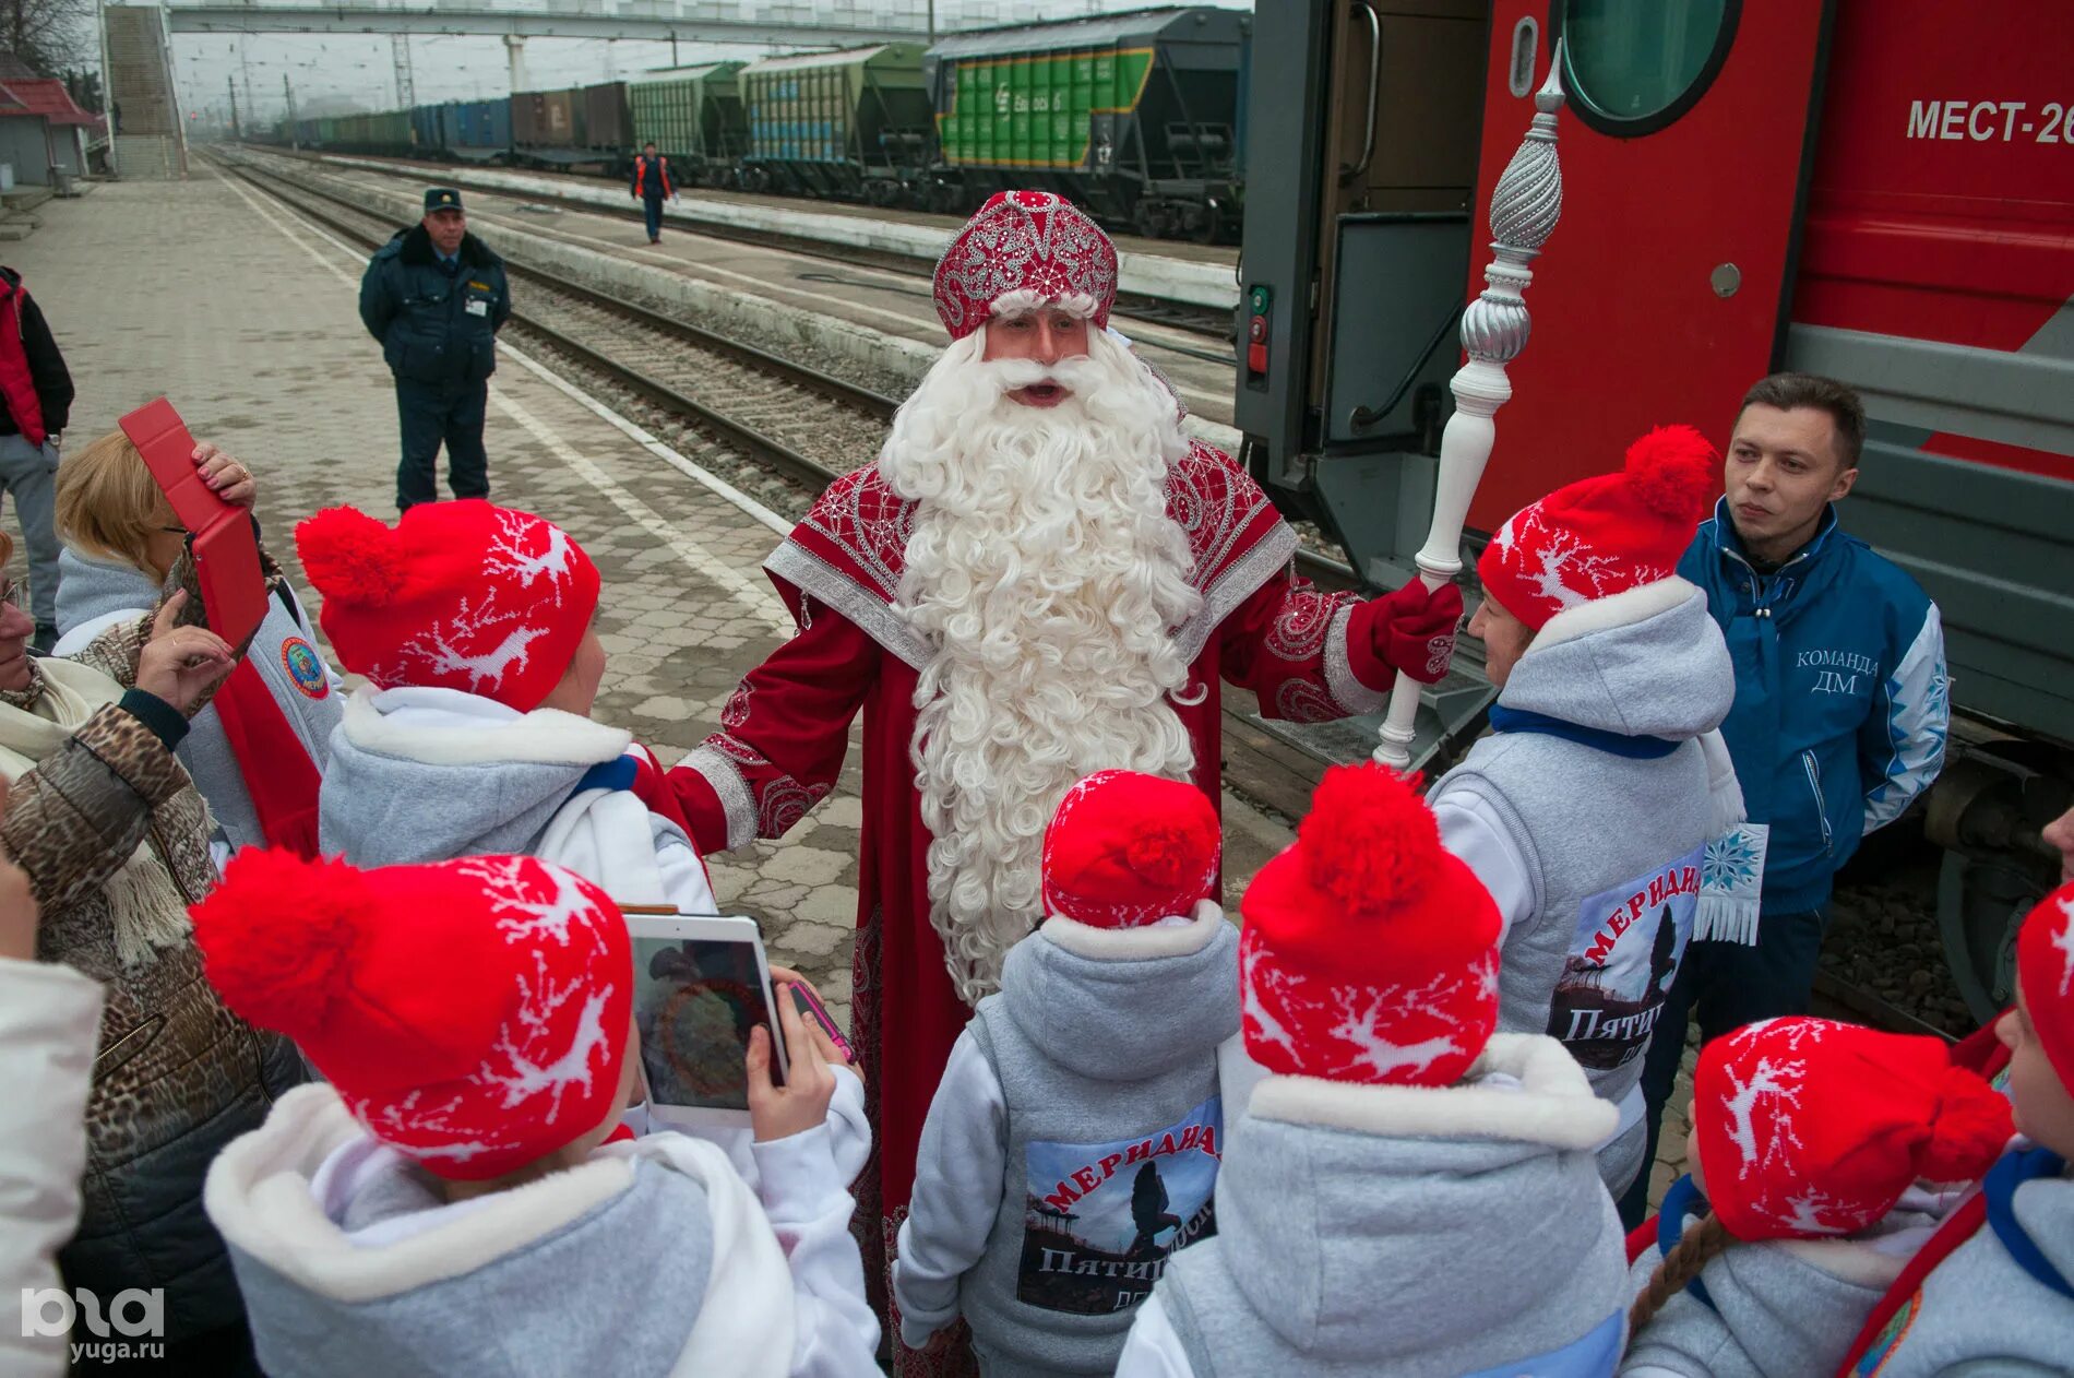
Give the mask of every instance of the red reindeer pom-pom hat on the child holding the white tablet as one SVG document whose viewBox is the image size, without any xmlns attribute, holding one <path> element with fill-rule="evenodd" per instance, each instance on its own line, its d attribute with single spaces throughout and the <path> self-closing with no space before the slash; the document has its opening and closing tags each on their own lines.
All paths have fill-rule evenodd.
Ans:
<svg viewBox="0 0 2074 1378">
<path fill-rule="evenodd" d="M 189 915 L 224 1004 L 292 1038 L 427 1173 L 502 1177 L 620 1110 L 633 944 L 574 872 L 247 849 Z"/>
</svg>

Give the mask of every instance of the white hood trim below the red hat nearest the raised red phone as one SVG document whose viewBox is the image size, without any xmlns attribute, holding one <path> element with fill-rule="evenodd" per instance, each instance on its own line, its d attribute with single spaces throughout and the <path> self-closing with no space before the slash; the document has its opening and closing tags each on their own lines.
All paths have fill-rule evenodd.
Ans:
<svg viewBox="0 0 2074 1378">
<path fill-rule="evenodd" d="M 361 751 L 427 766 L 595 766 L 633 743 L 633 733 L 556 708 L 518 714 L 458 689 L 369 685 L 346 699 L 340 731 Z"/>
</svg>

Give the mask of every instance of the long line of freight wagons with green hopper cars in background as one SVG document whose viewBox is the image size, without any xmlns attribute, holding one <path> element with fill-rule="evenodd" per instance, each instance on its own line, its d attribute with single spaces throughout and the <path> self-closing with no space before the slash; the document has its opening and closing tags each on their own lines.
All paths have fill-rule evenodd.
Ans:
<svg viewBox="0 0 2074 1378">
<path fill-rule="evenodd" d="M 1253 17 L 1207 6 L 707 62 L 504 100 L 297 120 L 282 143 L 591 168 L 962 214 L 1002 187 L 1153 237 L 1234 237 Z"/>
</svg>

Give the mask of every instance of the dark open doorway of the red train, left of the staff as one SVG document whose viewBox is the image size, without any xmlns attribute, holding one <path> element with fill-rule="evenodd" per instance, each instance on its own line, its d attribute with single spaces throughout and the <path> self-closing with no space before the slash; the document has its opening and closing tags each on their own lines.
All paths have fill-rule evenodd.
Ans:
<svg viewBox="0 0 2074 1378">
<path fill-rule="evenodd" d="M 1276 502 L 1379 581 L 1431 502 L 1487 8 L 1290 0 L 1253 27 L 1236 423 Z"/>
</svg>

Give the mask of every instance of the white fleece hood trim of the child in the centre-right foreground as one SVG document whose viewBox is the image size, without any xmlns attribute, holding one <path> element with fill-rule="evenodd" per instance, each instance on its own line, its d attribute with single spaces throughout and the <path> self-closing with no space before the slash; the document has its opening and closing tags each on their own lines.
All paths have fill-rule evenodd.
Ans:
<svg viewBox="0 0 2074 1378">
<path fill-rule="evenodd" d="M 1518 1077 L 1520 1090 L 1470 1085 L 1487 1073 Z M 1456 1085 L 1267 1077 L 1253 1092 L 1249 1114 L 1354 1133 L 1524 1139 L 1570 1150 L 1597 1150 L 1620 1123 L 1620 1110 L 1591 1094 L 1570 1050 L 1545 1034 L 1493 1034 Z"/>
</svg>

